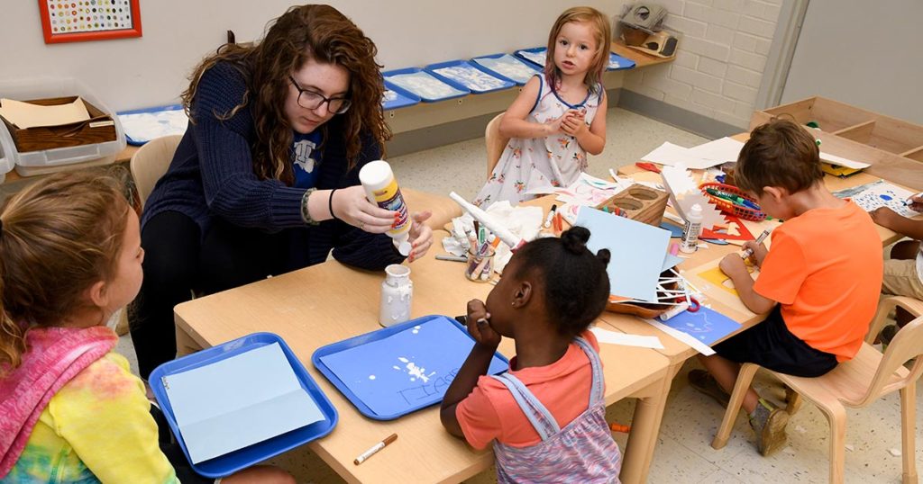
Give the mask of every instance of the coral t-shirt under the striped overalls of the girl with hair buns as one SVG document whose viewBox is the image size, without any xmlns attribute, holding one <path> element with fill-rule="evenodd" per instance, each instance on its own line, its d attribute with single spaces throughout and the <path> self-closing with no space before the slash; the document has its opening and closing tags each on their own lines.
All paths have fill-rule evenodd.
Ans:
<svg viewBox="0 0 923 484">
<path fill-rule="evenodd" d="M 599 351 L 593 333 L 584 331 L 580 336 Z M 589 407 L 593 370 L 586 353 L 576 343 L 571 343 L 564 356 L 550 365 L 513 370 L 515 366 L 513 358 L 509 361 L 509 372 L 551 412 L 558 427 L 563 429 Z M 485 448 L 494 439 L 513 447 L 542 441 L 509 389 L 489 376 L 478 379 L 471 394 L 455 407 L 455 417 L 465 440 L 475 449 Z"/>
</svg>

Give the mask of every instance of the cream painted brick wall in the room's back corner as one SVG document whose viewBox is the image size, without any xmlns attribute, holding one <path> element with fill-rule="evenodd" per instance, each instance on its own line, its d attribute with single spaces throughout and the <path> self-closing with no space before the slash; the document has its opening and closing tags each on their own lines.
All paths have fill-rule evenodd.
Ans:
<svg viewBox="0 0 923 484">
<path fill-rule="evenodd" d="M 630 73 L 624 89 L 746 128 L 782 0 L 656 1 L 680 34 L 677 58 Z"/>
</svg>

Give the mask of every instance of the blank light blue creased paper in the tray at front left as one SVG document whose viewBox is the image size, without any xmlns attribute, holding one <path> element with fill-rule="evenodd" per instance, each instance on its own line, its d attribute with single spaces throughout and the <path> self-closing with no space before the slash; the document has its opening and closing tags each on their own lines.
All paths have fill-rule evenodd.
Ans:
<svg viewBox="0 0 923 484">
<path fill-rule="evenodd" d="M 193 464 L 323 420 L 279 343 L 163 378 Z"/>
</svg>

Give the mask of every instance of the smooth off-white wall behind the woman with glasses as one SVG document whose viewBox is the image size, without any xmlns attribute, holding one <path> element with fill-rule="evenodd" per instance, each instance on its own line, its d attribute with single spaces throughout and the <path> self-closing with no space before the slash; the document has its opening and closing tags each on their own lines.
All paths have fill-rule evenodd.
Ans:
<svg viewBox="0 0 923 484">
<path fill-rule="evenodd" d="M 37 2 L 0 2 L 0 82 L 76 77 L 117 111 L 174 102 L 191 69 L 222 44 L 225 30 L 234 30 L 237 41 L 255 40 L 292 5 L 142 0 L 141 38 L 45 44 Z M 545 45 L 551 24 L 568 6 L 594 6 L 610 18 L 618 12 L 604 0 L 330 0 L 330 5 L 376 42 L 378 62 L 386 69 Z"/>
</svg>

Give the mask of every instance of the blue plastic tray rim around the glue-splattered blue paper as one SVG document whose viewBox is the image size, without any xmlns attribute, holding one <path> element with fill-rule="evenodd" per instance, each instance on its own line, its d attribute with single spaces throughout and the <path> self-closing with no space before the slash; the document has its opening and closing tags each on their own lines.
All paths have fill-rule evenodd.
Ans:
<svg viewBox="0 0 923 484">
<path fill-rule="evenodd" d="M 365 415 L 369 419 L 376 419 L 376 420 L 397 419 L 399 417 L 407 415 L 408 413 L 412 413 L 416 410 L 419 410 L 420 408 L 425 408 L 431 405 L 438 404 L 439 402 L 442 401 L 442 396 L 445 395 L 445 393 L 443 392 L 442 395 L 432 395 L 431 399 L 426 400 L 415 407 L 409 407 L 405 411 L 402 411 L 400 413 L 396 413 L 392 415 L 378 415 L 371 408 L 369 408 L 357 395 L 355 395 L 353 391 L 350 390 L 350 388 L 346 384 L 344 384 L 342 380 L 340 380 L 340 378 L 334 372 L 330 371 L 330 368 L 328 368 L 327 365 L 325 365 L 324 362 L 320 359 L 321 357 L 325 357 L 325 356 L 328 356 L 334 353 L 339 353 L 340 351 L 344 349 L 365 345 L 366 343 L 377 341 L 379 339 L 386 338 L 396 333 L 400 333 L 406 329 L 410 329 L 414 327 L 415 325 L 425 325 L 426 322 L 437 320 L 437 319 L 445 319 L 447 321 L 450 321 L 451 324 L 455 325 L 455 327 L 457 327 L 459 331 L 462 331 L 462 333 L 465 336 L 468 336 L 469 338 L 473 340 L 471 335 L 468 334 L 468 329 L 465 326 L 461 325 L 458 321 L 448 316 L 429 315 L 429 316 L 423 316 L 423 317 L 419 317 L 416 319 L 412 319 L 400 325 L 393 325 L 390 327 L 379 329 L 377 331 L 373 331 L 371 333 L 366 333 L 365 335 L 354 336 L 349 339 L 345 339 L 343 341 L 339 341 L 337 343 L 332 343 L 325 347 L 318 348 L 317 350 L 315 350 L 314 354 L 311 355 L 311 362 L 314 363 L 314 367 L 318 369 L 318 372 L 320 372 L 328 380 L 330 380 L 330 384 L 333 384 L 333 386 L 336 386 L 337 389 L 340 390 L 340 393 L 342 393 L 342 395 L 345 396 L 346 399 L 349 400 L 350 403 L 352 403 L 354 407 L 356 407 L 357 410 L 359 410 L 359 413 Z M 503 355 L 499 353 L 494 353 L 494 359 L 500 360 L 504 363 L 504 366 L 503 366 L 504 371 L 509 369 L 509 360 L 507 360 Z"/>
</svg>

